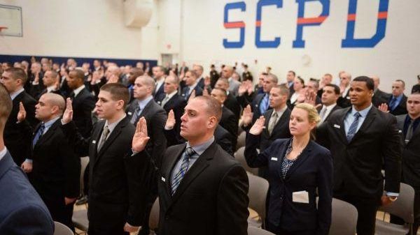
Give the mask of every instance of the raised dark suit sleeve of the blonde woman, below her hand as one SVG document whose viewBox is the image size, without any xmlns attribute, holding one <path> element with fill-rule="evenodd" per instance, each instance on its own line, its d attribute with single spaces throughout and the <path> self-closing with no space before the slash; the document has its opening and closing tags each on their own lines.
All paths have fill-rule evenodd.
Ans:
<svg viewBox="0 0 420 235">
<path fill-rule="evenodd" d="M 257 146 L 260 139 L 260 135 L 252 135 L 251 133 L 246 133 L 246 144 L 245 144 L 245 159 L 249 167 L 264 167 L 268 164 L 267 159 L 271 154 L 272 146 L 271 144 L 264 152 L 258 154 Z"/>
</svg>

